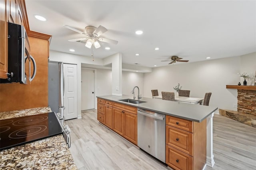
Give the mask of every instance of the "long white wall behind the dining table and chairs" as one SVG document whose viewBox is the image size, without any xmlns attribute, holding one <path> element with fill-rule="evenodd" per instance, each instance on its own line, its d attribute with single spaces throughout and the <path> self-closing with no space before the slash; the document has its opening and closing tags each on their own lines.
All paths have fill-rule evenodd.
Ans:
<svg viewBox="0 0 256 170">
<path fill-rule="evenodd" d="M 160 94 L 174 92 L 173 87 L 180 83 L 183 90 L 190 90 L 192 97 L 204 98 L 206 92 L 212 92 L 210 105 L 236 110 L 233 106 L 237 104 L 237 90 L 226 89 L 226 85 L 240 81 L 240 63 L 240 57 L 231 57 L 154 68 L 144 74 L 144 94 L 151 97 L 152 89 L 158 89 Z"/>
</svg>

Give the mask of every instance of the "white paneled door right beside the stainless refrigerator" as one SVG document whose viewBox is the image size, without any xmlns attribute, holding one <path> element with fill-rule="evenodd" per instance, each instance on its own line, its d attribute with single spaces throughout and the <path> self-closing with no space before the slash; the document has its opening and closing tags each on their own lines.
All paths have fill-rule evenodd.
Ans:
<svg viewBox="0 0 256 170">
<path fill-rule="evenodd" d="M 63 64 L 64 70 L 64 117 L 65 120 L 77 118 L 77 66 Z"/>
</svg>

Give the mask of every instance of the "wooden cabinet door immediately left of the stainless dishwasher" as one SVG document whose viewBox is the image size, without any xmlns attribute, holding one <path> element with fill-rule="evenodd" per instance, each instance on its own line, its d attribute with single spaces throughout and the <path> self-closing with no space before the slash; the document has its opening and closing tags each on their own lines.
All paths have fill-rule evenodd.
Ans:
<svg viewBox="0 0 256 170">
<path fill-rule="evenodd" d="M 124 138 L 137 145 L 137 115 L 124 112 Z"/>
</svg>

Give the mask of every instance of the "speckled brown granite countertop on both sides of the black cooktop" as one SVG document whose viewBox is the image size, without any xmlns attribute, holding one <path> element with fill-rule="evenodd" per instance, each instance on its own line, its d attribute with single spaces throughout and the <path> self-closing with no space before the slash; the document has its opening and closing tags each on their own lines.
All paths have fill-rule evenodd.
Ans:
<svg viewBox="0 0 256 170">
<path fill-rule="evenodd" d="M 0 120 L 52 112 L 50 107 L 1 112 Z M 0 170 L 77 170 L 63 135 L 52 136 L 0 152 Z"/>
</svg>

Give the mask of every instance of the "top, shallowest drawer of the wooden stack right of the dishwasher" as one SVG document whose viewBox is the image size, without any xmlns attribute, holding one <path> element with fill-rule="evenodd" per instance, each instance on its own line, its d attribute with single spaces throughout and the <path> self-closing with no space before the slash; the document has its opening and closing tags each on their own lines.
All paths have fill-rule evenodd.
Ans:
<svg viewBox="0 0 256 170">
<path fill-rule="evenodd" d="M 193 122 L 190 120 L 166 115 L 166 124 L 193 133 Z"/>
</svg>

